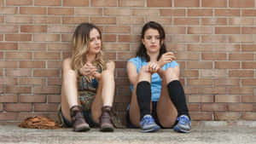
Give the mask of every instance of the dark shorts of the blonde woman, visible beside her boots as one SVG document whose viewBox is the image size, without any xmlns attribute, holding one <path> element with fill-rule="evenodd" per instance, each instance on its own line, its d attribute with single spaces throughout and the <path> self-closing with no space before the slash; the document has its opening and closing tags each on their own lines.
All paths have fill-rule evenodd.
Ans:
<svg viewBox="0 0 256 144">
<path fill-rule="evenodd" d="M 100 124 L 96 123 L 92 116 L 91 116 L 91 111 L 83 111 L 83 114 L 84 114 L 84 119 L 86 121 L 87 124 L 90 125 L 91 128 L 96 128 L 96 127 L 99 127 Z M 63 113 L 61 112 L 61 109 L 59 110 L 59 116 L 61 118 L 61 125 L 63 127 L 67 127 L 67 128 L 70 128 L 73 126 L 72 122 L 70 122 L 69 120 L 67 120 L 67 118 L 65 118 L 63 116 Z"/>
</svg>

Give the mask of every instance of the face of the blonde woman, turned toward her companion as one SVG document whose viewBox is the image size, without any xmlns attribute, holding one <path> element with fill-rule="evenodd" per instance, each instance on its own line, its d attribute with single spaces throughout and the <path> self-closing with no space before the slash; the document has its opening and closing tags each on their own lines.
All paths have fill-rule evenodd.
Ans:
<svg viewBox="0 0 256 144">
<path fill-rule="evenodd" d="M 88 53 L 92 55 L 98 54 L 102 49 L 102 39 L 100 32 L 93 28 L 90 30 L 89 39 L 89 50 Z"/>
</svg>

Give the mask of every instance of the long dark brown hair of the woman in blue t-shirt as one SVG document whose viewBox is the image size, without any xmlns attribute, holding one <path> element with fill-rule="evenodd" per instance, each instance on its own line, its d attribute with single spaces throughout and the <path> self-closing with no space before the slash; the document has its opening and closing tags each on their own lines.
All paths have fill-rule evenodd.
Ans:
<svg viewBox="0 0 256 144">
<path fill-rule="evenodd" d="M 154 22 L 154 21 L 149 21 L 148 23 L 146 23 L 143 26 L 143 31 L 141 33 L 141 38 L 142 39 L 144 38 L 145 32 L 149 28 L 157 30 L 159 32 L 159 34 L 160 34 L 160 53 L 157 56 L 157 60 L 160 60 L 161 55 L 166 53 L 166 44 L 162 43 L 163 40 L 165 40 L 165 38 L 166 38 L 165 30 L 164 30 L 164 28 L 162 26 L 160 26 L 159 23 Z M 145 45 L 142 42 L 141 42 L 141 44 L 140 44 L 140 46 L 139 46 L 139 48 L 137 50 L 137 56 L 141 57 L 143 60 L 146 60 L 147 62 L 150 61 L 150 57 L 147 54 L 147 49 L 145 48 Z"/>
</svg>

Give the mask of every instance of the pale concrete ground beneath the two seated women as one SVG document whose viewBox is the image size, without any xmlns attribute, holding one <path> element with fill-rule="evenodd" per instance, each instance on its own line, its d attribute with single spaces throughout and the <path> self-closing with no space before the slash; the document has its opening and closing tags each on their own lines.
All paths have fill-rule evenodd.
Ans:
<svg viewBox="0 0 256 144">
<path fill-rule="evenodd" d="M 173 130 L 156 133 L 141 133 L 138 129 L 119 129 L 113 133 L 102 133 L 98 129 L 77 133 L 72 129 L 33 130 L 16 125 L 0 125 L 1 144 L 255 144 L 256 127 L 248 126 L 197 126 L 189 134 Z"/>
</svg>

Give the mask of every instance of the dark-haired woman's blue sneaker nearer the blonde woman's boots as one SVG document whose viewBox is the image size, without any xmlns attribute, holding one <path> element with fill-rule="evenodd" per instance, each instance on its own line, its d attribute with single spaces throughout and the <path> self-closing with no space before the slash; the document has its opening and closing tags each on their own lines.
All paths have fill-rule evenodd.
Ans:
<svg viewBox="0 0 256 144">
<path fill-rule="evenodd" d="M 160 130 L 160 126 L 155 124 L 154 118 L 149 114 L 142 118 L 140 125 L 143 132 L 154 132 Z"/>
</svg>

